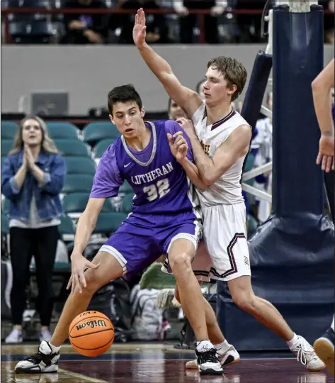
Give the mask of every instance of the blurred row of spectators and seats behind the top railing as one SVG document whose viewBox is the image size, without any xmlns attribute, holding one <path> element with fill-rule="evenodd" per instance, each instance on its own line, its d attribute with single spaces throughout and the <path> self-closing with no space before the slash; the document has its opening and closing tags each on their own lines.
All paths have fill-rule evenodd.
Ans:
<svg viewBox="0 0 335 383">
<path fill-rule="evenodd" d="M 11 13 L 12 43 L 132 44 L 135 11 L 142 7 L 144 11 L 171 11 L 147 13 L 148 43 L 198 43 L 200 16 L 190 11 L 200 9 L 208 12 L 203 21 L 205 43 L 213 44 L 261 42 L 261 11 L 265 4 L 266 0 L 3 0 L 1 8 L 86 10 L 82 14 Z M 334 43 L 334 1 L 320 0 L 319 4 L 330 11 L 324 16 L 325 40 Z M 132 13 L 98 14 L 90 13 L 91 9 L 126 9 Z"/>
</svg>

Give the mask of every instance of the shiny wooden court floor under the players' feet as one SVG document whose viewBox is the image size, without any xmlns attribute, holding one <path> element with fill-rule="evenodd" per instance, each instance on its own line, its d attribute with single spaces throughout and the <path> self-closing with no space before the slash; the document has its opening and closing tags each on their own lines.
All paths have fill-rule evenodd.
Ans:
<svg viewBox="0 0 335 383">
<path fill-rule="evenodd" d="M 242 353 L 235 365 L 218 377 L 186 370 L 193 359 L 190 350 L 176 350 L 158 343 L 114 344 L 100 357 L 75 353 L 71 345 L 61 349 L 58 374 L 14 374 L 13 368 L 38 345 L 2 345 L 1 382 L 6 383 L 330 383 L 329 372 L 308 372 L 290 353 Z"/>
</svg>

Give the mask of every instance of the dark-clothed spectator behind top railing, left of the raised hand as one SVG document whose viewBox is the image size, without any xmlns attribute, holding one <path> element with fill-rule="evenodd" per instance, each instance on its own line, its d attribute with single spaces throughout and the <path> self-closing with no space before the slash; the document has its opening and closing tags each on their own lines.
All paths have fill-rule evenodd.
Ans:
<svg viewBox="0 0 335 383">
<path fill-rule="evenodd" d="M 64 9 L 106 9 L 103 0 L 66 0 Z M 108 14 L 65 13 L 62 44 L 102 44 L 108 36 Z"/>
</svg>

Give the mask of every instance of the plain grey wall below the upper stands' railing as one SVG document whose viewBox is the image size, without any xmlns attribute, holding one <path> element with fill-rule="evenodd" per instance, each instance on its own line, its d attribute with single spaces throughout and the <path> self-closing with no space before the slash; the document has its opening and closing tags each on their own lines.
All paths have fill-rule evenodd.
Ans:
<svg viewBox="0 0 335 383">
<path fill-rule="evenodd" d="M 262 45 L 171 45 L 154 49 L 164 57 L 177 77 L 194 89 L 203 78 L 211 57 L 233 56 L 248 72 Z M 325 46 L 325 63 L 334 56 Z M 17 46 L 1 47 L 1 111 L 18 111 L 21 96 L 33 91 L 69 92 L 69 113 L 86 114 L 91 107 L 106 106 L 108 91 L 131 82 L 148 111 L 164 111 L 168 96 L 159 81 L 147 69 L 134 46 L 73 47 Z M 29 105 L 25 104 L 25 111 Z"/>
</svg>

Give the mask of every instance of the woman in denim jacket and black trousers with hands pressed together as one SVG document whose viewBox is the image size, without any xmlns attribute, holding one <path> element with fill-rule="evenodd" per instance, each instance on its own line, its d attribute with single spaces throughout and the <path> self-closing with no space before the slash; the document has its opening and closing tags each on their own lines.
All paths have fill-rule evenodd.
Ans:
<svg viewBox="0 0 335 383">
<path fill-rule="evenodd" d="M 9 199 L 10 252 L 13 268 L 11 313 L 13 330 L 6 343 L 21 343 L 25 289 L 29 281 L 30 260 L 34 255 L 38 282 L 40 340 L 50 340 L 52 315 L 52 272 L 59 239 L 59 217 L 65 163 L 47 126 L 38 117 L 21 121 L 1 170 L 1 192 Z"/>
</svg>

